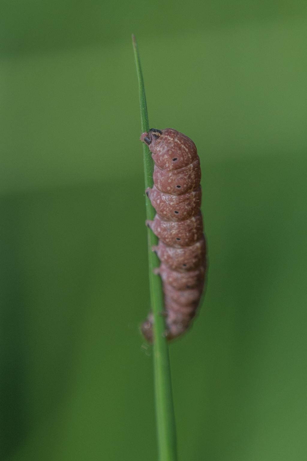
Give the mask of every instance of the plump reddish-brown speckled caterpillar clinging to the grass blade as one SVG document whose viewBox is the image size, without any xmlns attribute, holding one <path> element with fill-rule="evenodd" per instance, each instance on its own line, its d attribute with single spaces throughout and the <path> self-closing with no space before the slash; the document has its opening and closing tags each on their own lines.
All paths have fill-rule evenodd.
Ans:
<svg viewBox="0 0 307 461">
<path fill-rule="evenodd" d="M 161 265 L 168 340 L 182 335 L 195 317 L 206 273 L 206 240 L 201 216 L 201 168 L 194 142 L 173 128 L 142 133 L 154 161 L 153 188 L 146 194 L 156 210 L 148 227 L 158 236 L 153 251 Z M 141 327 L 153 341 L 153 315 Z"/>
</svg>

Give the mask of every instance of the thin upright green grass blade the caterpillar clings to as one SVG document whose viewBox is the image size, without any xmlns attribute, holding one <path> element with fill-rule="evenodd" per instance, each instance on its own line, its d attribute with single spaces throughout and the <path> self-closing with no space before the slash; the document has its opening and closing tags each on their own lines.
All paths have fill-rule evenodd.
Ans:
<svg viewBox="0 0 307 461">
<path fill-rule="evenodd" d="M 141 108 L 142 132 L 149 130 L 148 113 L 144 81 L 142 76 L 140 56 L 136 38 L 132 35 L 134 56 L 136 60 L 136 72 L 139 81 L 139 96 Z M 153 186 L 153 160 L 148 146 L 143 144 L 145 187 Z M 146 216 L 153 219 L 155 210 L 146 196 Z M 164 309 L 163 292 L 160 277 L 153 273 L 153 269 L 159 266 L 159 259 L 151 251 L 152 245 L 157 244 L 157 237 L 148 229 L 148 263 L 149 263 L 149 284 L 150 298 L 153 310 L 153 366 L 154 366 L 154 388 L 155 407 L 158 435 L 159 461 L 177 461 L 176 427 L 171 391 L 171 368 L 168 353 L 168 344 L 164 337 L 165 321 L 161 313 Z"/>
</svg>

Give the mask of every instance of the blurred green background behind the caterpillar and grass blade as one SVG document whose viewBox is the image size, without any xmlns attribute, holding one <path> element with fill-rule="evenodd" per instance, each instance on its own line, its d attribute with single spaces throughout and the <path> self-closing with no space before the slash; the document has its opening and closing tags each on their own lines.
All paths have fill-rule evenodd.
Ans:
<svg viewBox="0 0 307 461">
<path fill-rule="evenodd" d="M 304 1 L 4 0 L 1 450 L 156 461 L 136 70 L 201 157 L 210 268 L 170 348 L 179 461 L 307 458 Z"/>
</svg>

